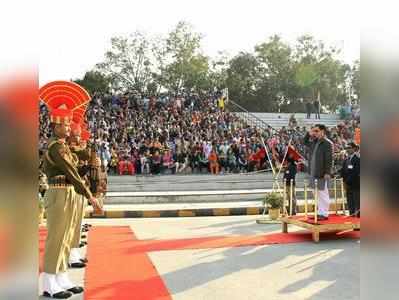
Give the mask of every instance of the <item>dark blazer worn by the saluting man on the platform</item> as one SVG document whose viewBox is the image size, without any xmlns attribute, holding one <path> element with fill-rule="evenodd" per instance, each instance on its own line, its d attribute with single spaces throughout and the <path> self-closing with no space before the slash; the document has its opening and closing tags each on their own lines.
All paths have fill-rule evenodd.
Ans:
<svg viewBox="0 0 399 300">
<path fill-rule="evenodd" d="M 309 133 L 306 133 L 304 144 L 309 147 L 308 172 L 312 170 L 312 155 L 317 144 L 317 140 L 311 140 Z M 327 139 L 322 139 L 316 153 L 316 175 L 315 178 L 324 178 L 325 174 L 332 175 L 332 143 Z"/>
</svg>

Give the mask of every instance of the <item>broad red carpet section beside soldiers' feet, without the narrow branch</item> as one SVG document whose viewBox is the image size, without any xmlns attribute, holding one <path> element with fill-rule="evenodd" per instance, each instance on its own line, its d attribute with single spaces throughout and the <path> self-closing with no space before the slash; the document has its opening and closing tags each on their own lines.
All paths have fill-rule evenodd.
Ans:
<svg viewBox="0 0 399 300">
<path fill-rule="evenodd" d="M 86 300 L 172 299 L 147 253 L 127 251 L 136 243 L 127 226 L 90 230 Z"/>
</svg>

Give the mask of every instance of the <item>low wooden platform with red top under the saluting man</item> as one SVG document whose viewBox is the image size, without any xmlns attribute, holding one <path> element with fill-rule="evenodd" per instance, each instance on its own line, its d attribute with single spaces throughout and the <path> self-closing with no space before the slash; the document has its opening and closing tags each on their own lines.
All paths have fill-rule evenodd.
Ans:
<svg viewBox="0 0 399 300">
<path fill-rule="evenodd" d="M 311 231 L 313 241 L 316 243 L 320 240 L 320 232 L 360 229 L 360 218 L 335 214 L 330 215 L 328 220 L 317 223 L 314 223 L 313 215 L 308 215 L 308 218 L 306 216 L 282 217 L 280 221 L 284 233 L 288 233 L 288 224 L 296 225 Z"/>
</svg>

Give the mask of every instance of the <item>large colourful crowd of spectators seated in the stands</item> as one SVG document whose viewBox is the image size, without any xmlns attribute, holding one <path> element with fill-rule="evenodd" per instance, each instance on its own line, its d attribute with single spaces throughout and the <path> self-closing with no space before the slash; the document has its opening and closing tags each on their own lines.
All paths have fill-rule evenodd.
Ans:
<svg viewBox="0 0 399 300">
<path fill-rule="evenodd" d="M 87 111 L 91 142 L 109 174 L 241 173 L 269 169 L 261 137 L 273 149 L 273 164 L 292 145 L 306 157 L 308 130 L 290 120 L 278 130 L 260 130 L 226 109 L 221 93 L 158 96 L 125 93 L 94 95 Z M 40 106 L 39 152 L 49 136 L 45 105 Z M 336 164 L 353 140 L 360 120 L 330 128 Z"/>
</svg>

